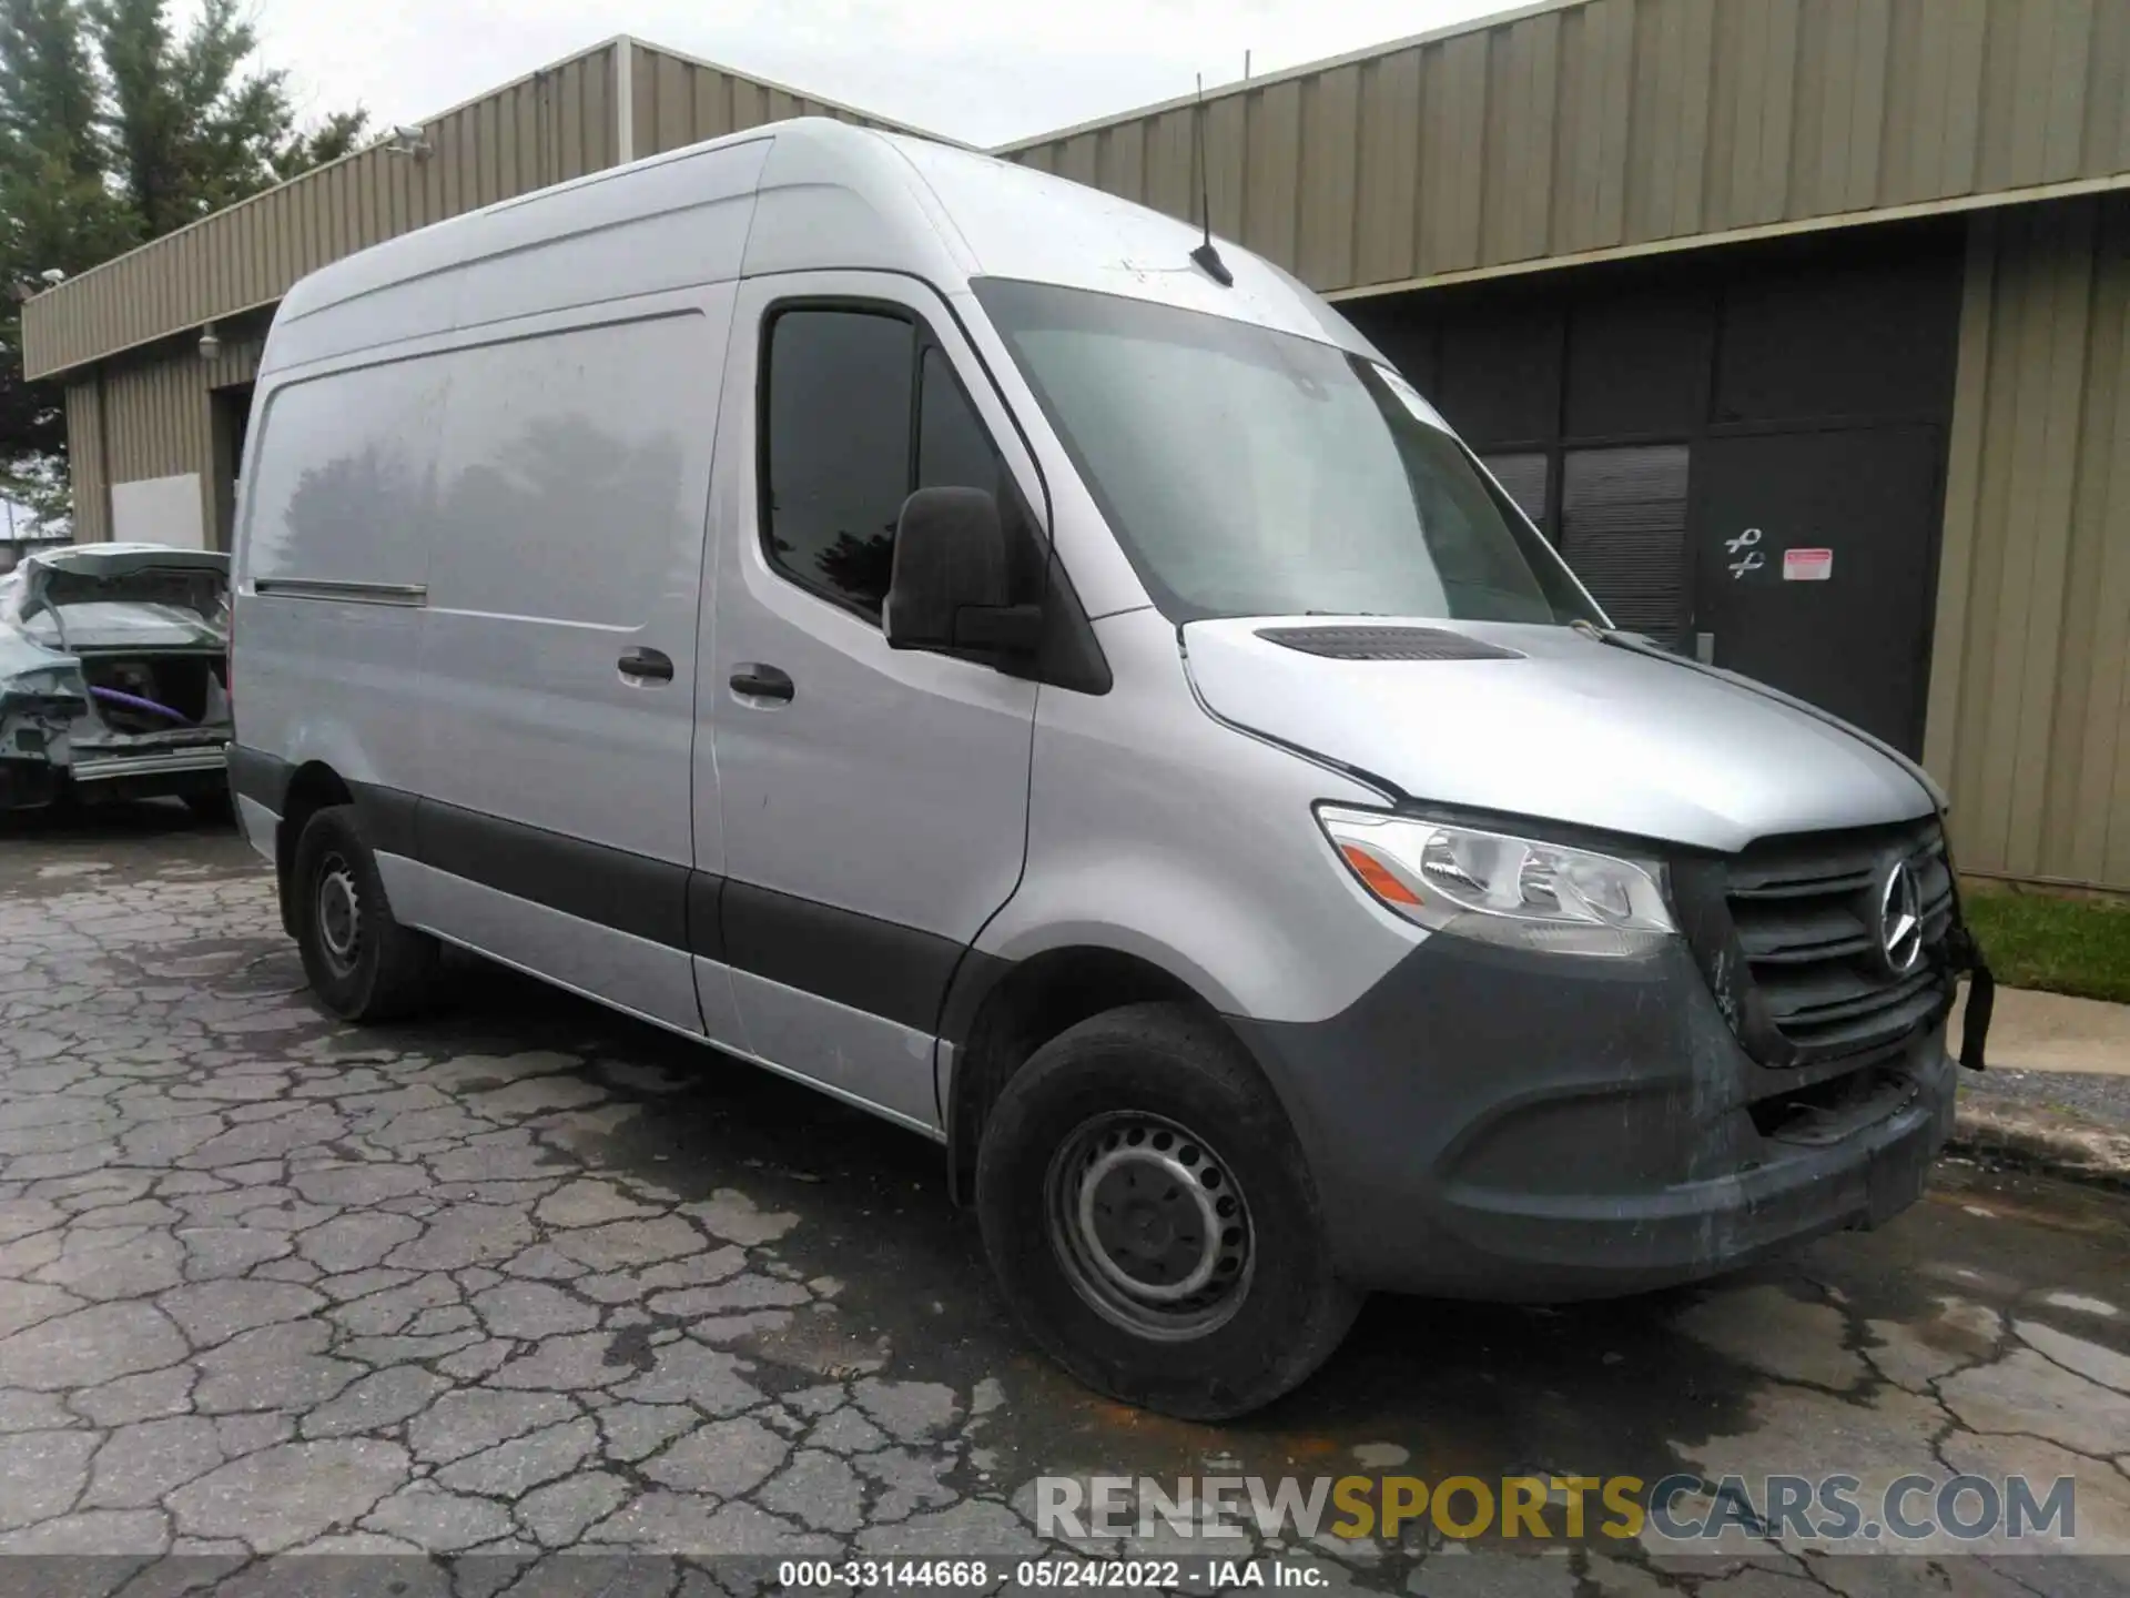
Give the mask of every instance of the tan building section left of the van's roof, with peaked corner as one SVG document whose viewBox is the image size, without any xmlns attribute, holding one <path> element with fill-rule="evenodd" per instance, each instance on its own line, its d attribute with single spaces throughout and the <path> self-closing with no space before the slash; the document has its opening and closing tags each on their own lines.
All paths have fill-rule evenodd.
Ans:
<svg viewBox="0 0 2130 1598">
<path fill-rule="evenodd" d="M 23 366 L 66 381 L 77 537 L 177 526 L 228 541 L 249 384 L 273 309 L 305 273 L 547 183 L 786 117 L 899 126 L 611 38 L 428 119 L 411 151 L 347 156 L 38 294 L 23 311 Z"/>
</svg>

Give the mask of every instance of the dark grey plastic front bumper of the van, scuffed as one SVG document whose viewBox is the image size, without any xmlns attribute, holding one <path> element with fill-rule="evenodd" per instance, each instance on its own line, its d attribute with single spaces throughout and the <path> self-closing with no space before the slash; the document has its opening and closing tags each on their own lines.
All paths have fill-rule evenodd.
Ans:
<svg viewBox="0 0 2130 1598">
<path fill-rule="evenodd" d="M 1868 1063 L 1751 1059 L 1683 944 L 1574 961 L 1429 937 L 1346 1012 L 1238 1021 L 1342 1274 L 1574 1300 L 1698 1281 L 1913 1204 L 1953 1123 L 1945 1014 Z"/>
</svg>

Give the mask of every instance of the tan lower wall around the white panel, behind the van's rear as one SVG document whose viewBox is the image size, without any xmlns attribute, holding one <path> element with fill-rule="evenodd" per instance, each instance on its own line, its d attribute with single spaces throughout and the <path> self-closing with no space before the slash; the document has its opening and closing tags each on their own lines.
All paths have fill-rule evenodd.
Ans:
<svg viewBox="0 0 2130 1598">
<path fill-rule="evenodd" d="M 115 360 L 66 388 L 75 537 L 111 537 L 111 486 L 200 473 L 200 524 L 217 524 L 213 390 L 258 375 L 262 337 L 224 339 L 215 360 L 196 347 L 160 345 Z"/>
</svg>

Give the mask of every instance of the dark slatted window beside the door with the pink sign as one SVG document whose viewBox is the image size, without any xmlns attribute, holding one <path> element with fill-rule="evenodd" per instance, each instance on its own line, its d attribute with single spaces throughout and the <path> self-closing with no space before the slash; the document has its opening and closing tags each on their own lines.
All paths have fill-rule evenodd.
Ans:
<svg viewBox="0 0 2130 1598">
<path fill-rule="evenodd" d="M 1561 556 L 1615 626 L 1678 643 L 1687 631 L 1687 445 L 1566 452 Z"/>
</svg>

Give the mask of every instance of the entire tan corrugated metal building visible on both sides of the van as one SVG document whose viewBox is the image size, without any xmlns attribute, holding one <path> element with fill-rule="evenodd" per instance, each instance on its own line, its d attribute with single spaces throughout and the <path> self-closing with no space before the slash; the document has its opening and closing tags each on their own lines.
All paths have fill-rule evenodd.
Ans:
<svg viewBox="0 0 2130 1598">
<path fill-rule="evenodd" d="M 609 40 L 38 296 L 81 537 L 226 537 L 305 271 L 822 113 Z M 1617 618 L 1919 750 L 1964 869 L 2130 891 L 2130 4 L 1546 0 L 999 153 L 1195 215 L 1201 132 Z"/>
</svg>

